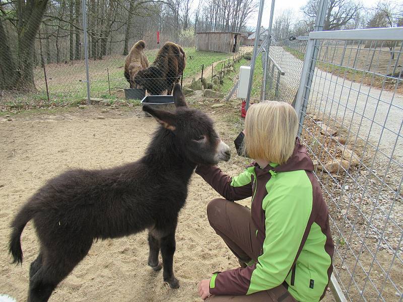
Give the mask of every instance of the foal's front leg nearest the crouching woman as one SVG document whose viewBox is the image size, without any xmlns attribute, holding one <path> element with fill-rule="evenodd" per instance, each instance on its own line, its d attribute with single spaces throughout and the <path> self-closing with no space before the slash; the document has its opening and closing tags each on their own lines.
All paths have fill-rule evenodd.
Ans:
<svg viewBox="0 0 403 302">
<path fill-rule="evenodd" d="M 169 283 L 172 288 L 179 288 L 179 281 L 173 274 L 173 254 L 175 253 L 175 228 L 176 223 L 169 234 L 161 238 L 161 255 L 162 264 L 164 266 L 164 281 Z"/>
</svg>

